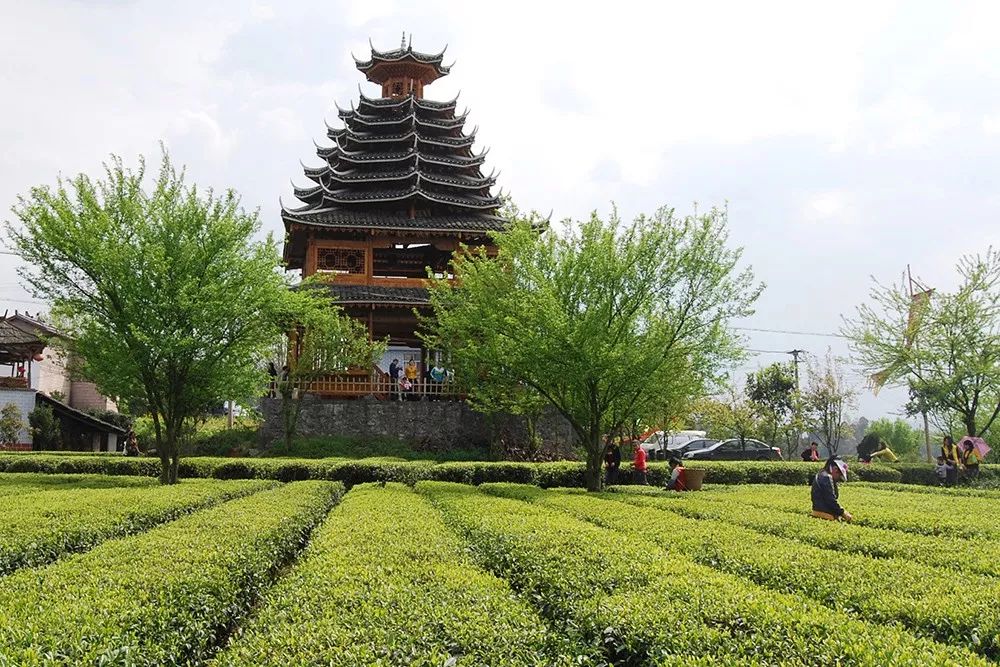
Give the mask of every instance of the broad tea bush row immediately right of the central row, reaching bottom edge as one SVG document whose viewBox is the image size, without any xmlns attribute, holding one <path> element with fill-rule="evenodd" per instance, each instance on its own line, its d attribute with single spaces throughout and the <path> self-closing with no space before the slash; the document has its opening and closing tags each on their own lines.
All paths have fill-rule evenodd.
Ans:
<svg viewBox="0 0 1000 667">
<path fill-rule="evenodd" d="M 463 532 L 483 567 L 550 623 L 600 645 L 609 664 L 986 664 L 898 625 L 860 621 L 715 571 L 642 536 L 622 539 L 562 510 L 453 484 L 421 482 L 417 490 Z"/>
</svg>

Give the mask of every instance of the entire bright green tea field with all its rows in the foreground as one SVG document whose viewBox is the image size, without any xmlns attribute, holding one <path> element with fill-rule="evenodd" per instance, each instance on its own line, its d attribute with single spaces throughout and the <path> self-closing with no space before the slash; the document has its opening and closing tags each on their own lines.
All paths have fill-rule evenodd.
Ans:
<svg viewBox="0 0 1000 667">
<path fill-rule="evenodd" d="M 0 665 L 1000 657 L 992 491 L 111 479 L 0 474 Z"/>
</svg>

